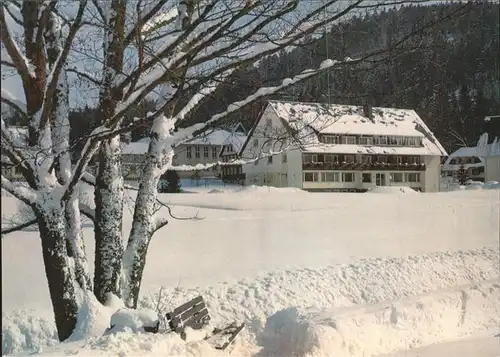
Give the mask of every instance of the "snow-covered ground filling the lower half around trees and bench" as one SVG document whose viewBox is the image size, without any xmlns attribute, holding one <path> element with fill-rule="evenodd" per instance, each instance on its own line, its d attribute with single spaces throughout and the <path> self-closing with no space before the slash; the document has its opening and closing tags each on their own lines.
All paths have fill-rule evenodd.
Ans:
<svg viewBox="0 0 500 357">
<path fill-rule="evenodd" d="M 154 309 L 161 287 L 166 310 L 202 294 L 213 325 L 246 323 L 231 348 L 196 334 L 102 337 L 110 312 L 92 305 L 87 338 L 56 344 L 39 238 L 26 231 L 2 238 L 3 354 L 500 355 L 499 190 L 185 189 L 161 200 L 204 219 L 171 219 L 153 238 L 141 305 Z M 2 197 L 3 216 L 17 209 Z"/>
</svg>

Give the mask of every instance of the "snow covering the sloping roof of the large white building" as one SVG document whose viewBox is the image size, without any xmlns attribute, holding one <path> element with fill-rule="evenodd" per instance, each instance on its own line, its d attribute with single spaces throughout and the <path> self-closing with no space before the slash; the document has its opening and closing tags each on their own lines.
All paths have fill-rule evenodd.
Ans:
<svg viewBox="0 0 500 357">
<path fill-rule="evenodd" d="M 423 147 L 387 148 L 373 146 L 348 145 L 350 150 L 377 150 L 401 153 L 401 151 L 418 152 L 415 155 L 447 155 L 434 134 L 427 125 L 411 109 L 372 108 L 372 119 L 364 115 L 363 107 L 354 105 L 338 105 L 323 103 L 298 103 L 284 101 L 269 101 L 276 115 L 284 120 L 292 129 L 299 131 L 300 137 L 310 137 L 311 130 L 322 134 L 352 134 L 352 135 L 394 135 L 422 138 Z M 315 136 L 315 135 L 314 135 Z M 323 148 L 326 151 L 339 152 L 341 145 L 323 146 L 314 142 L 312 149 Z M 327 148 L 330 147 L 330 148 Z M 344 149 L 348 149 L 347 145 Z M 312 151 L 312 150 L 308 150 Z"/>
</svg>

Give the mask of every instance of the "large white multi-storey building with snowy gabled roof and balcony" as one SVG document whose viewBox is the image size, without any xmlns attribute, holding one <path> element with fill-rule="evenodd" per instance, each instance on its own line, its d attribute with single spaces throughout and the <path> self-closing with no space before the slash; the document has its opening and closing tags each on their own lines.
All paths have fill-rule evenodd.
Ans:
<svg viewBox="0 0 500 357">
<path fill-rule="evenodd" d="M 413 110 L 270 101 L 240 156 L 261 157 L 243 165 L 246 184 L 355 192 L 409 186 L 435 192 L 447 153 Z"/>
</svg>

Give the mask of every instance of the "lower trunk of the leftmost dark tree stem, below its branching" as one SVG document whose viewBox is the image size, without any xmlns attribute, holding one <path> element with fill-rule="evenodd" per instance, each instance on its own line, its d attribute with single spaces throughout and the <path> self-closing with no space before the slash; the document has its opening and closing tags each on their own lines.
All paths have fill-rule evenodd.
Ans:
<svg viewBox="0 0 500 357">
<path fill-rule="evenodd" d="M 66 250 L 64 214 L 62 209 L 52 209 L 39 211 L 37 216 L 57 334 L 64 341 L 73 333 L 78 314 L 74 275 Z"/>
</svg>

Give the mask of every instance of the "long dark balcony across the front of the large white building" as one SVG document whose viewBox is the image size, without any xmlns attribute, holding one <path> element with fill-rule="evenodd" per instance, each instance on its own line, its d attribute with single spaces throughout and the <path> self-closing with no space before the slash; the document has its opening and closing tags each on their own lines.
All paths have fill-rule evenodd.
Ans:
<svg viewBox="0 0 500 357">
<path fill-rule="evenodd" d="M 303 170 L 321 171 L 425 171 L 425 164 L 384 163 L 384 162 L 310 162 L 302 164 Z"/>
</svg>

